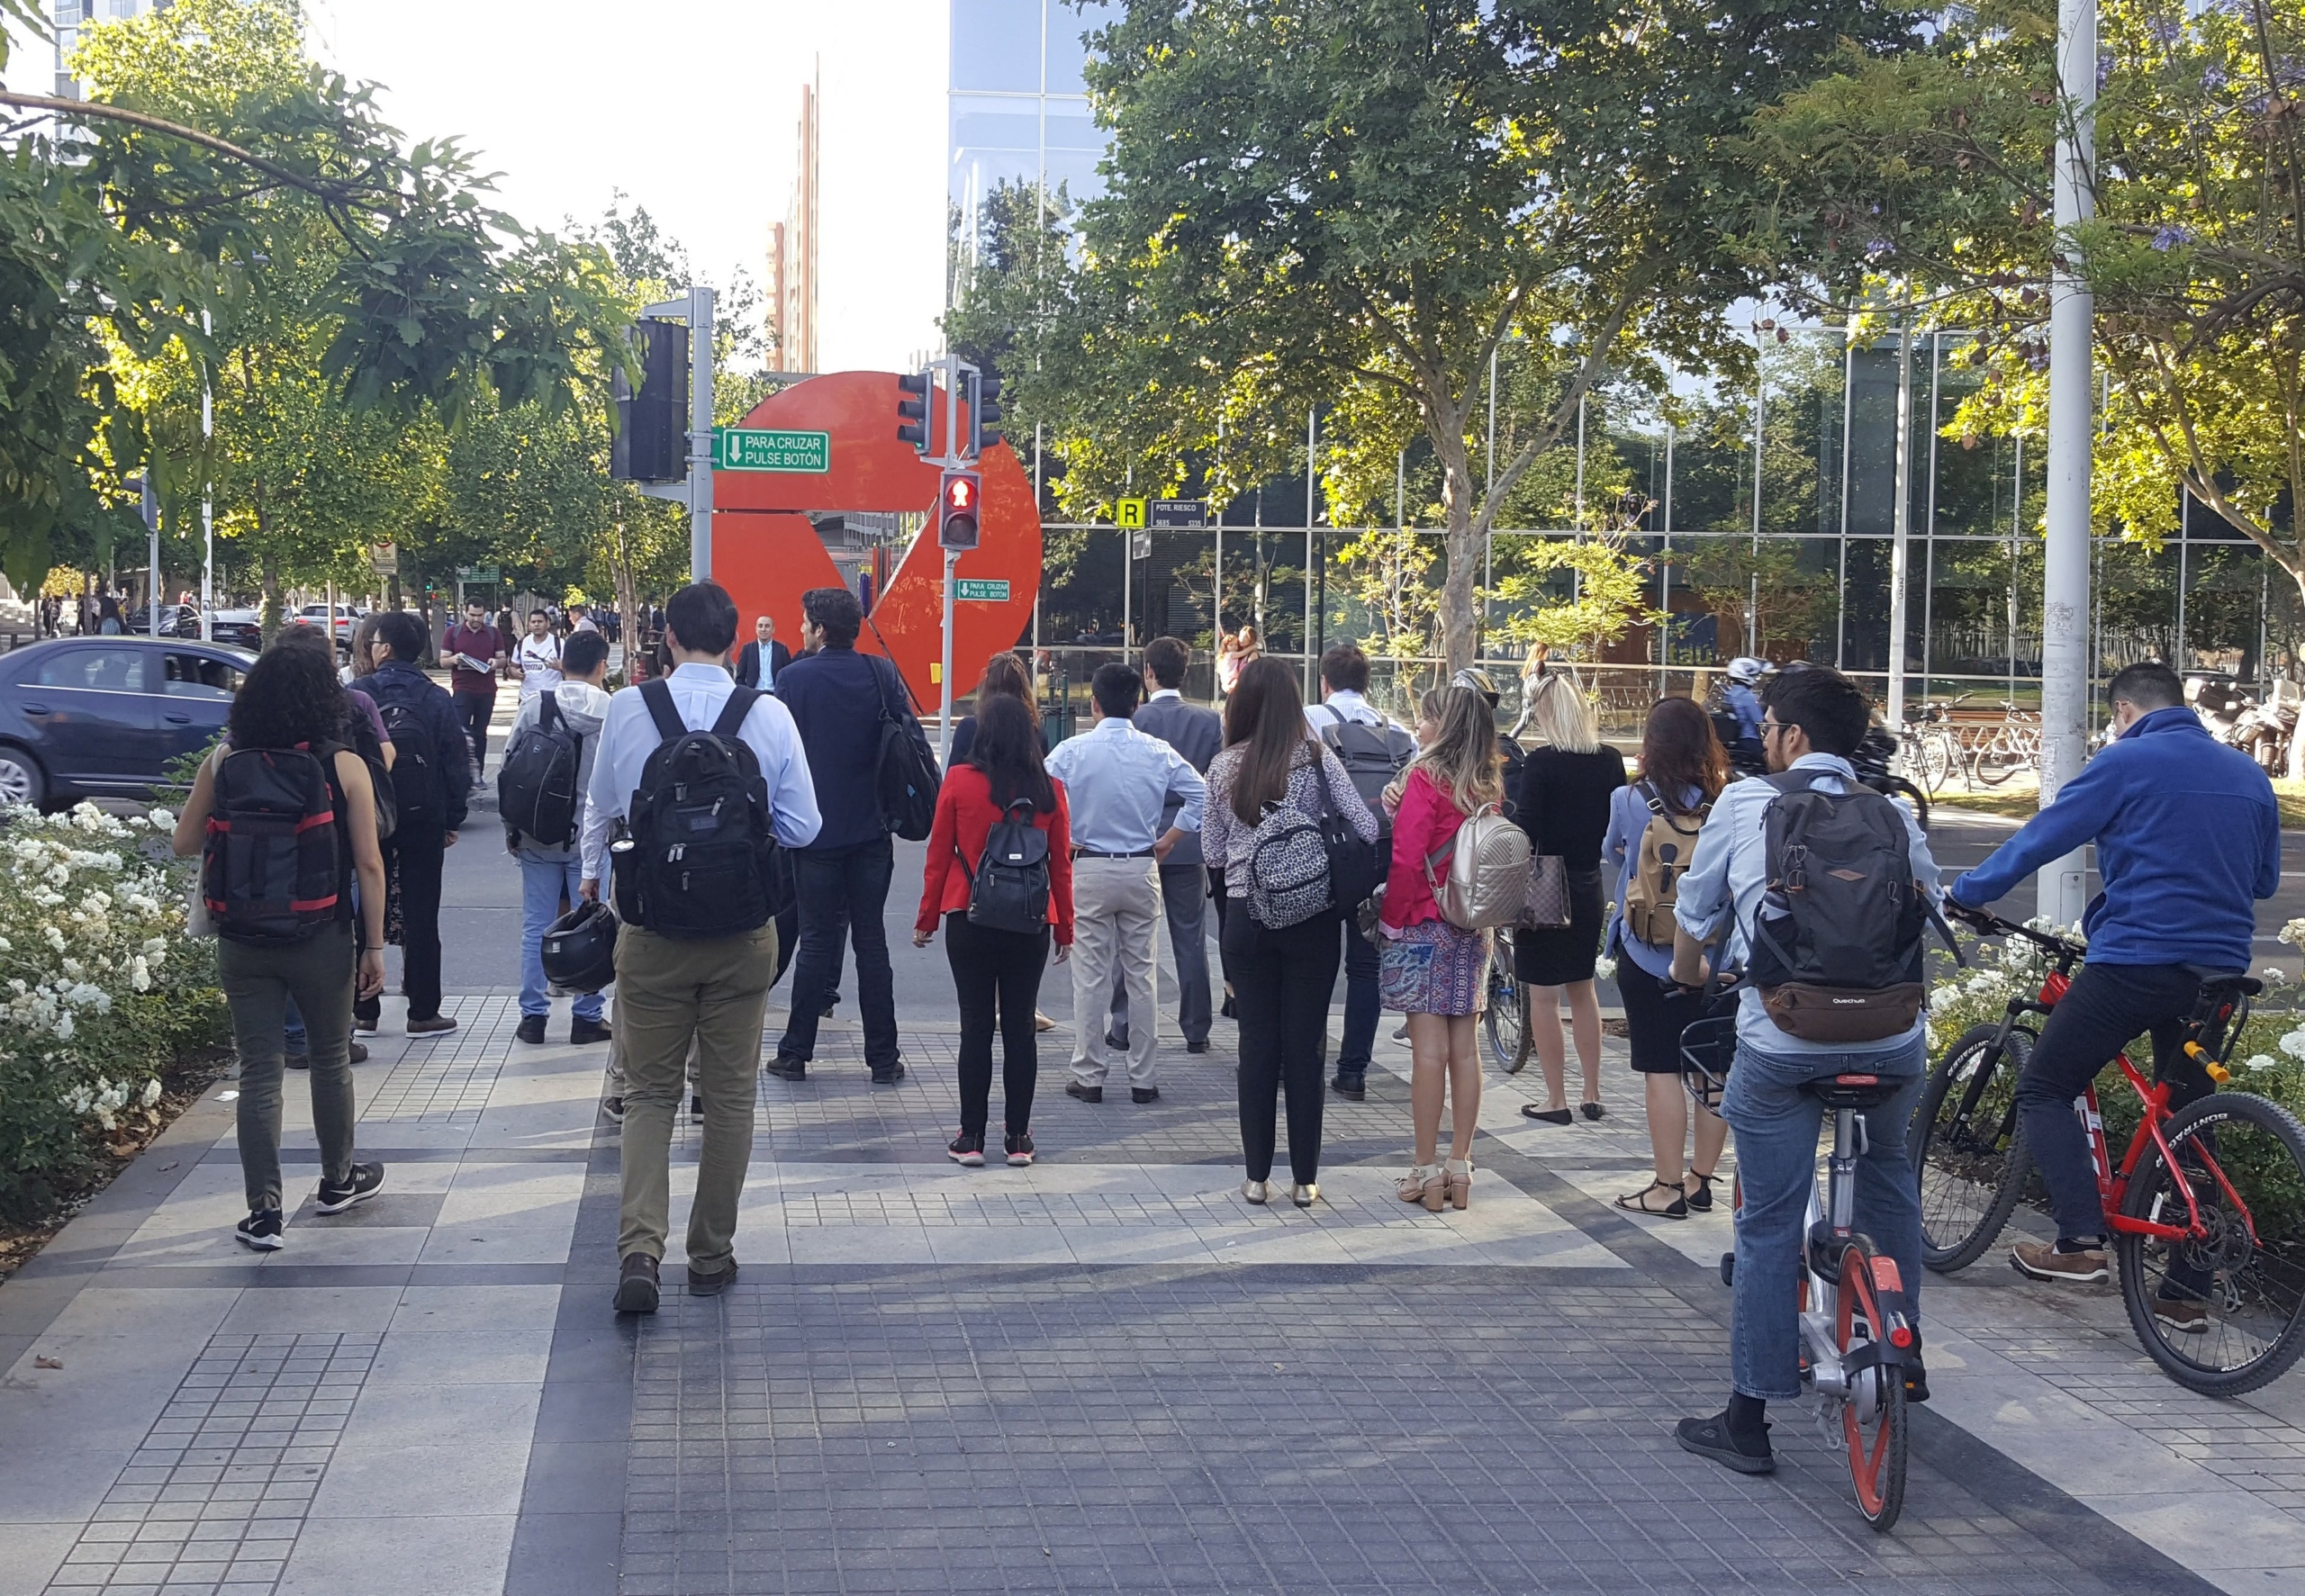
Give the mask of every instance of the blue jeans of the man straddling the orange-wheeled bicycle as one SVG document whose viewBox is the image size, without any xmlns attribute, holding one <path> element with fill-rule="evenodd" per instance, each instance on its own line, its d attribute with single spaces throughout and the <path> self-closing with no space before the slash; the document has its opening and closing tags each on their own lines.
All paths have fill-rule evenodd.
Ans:
<svg viewBox="0 0 2305 1596">
<path fill-rule="evenodd" d="M 1922 1046 L 1777 1055 L 1740 1041 L 1722 1096 L 1743 1191 L 1729 1380 L 1743 1396 L 1766 1403 L 1800 1396 L 1800 1221 L 1816 1184 L 1816 1138 L 1826 1119 L 1826 1105 L 1800 1087 L 1842 1073 L 1897 1080 L 1897 1096 L 1865 1110 L 1869 1149 L 1858 1158 L 1856 1223 L 1897 1260 L 1913 1324 L 1920 1324 L 1920 1188 L 1904 1161 L 1904 1128 L 1927 1080 Z"/>
</svg>

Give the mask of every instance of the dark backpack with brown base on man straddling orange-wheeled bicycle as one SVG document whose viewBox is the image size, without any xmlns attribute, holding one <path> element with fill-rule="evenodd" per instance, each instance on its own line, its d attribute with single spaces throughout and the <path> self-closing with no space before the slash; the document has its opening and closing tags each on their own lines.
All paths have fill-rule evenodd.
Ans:
<svg viewBox="0 0 2305 1596">
<path fill-rule="evenodd" d="M 1791 1036 L 1885 1041 L 1920 1016 L 1934 910 L 1913 880 L 1904 811 L 1872 788 L 1821 792 L 1814 778 L 1759 778 L 1777 797 L 1761 818 L 1766 864 L 1747 976 Z"/>
</svg>

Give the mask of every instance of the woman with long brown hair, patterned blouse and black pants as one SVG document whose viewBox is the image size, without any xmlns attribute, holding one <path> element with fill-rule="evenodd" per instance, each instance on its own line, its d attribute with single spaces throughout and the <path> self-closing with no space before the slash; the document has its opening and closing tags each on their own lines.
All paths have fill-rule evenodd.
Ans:
<svg viewBox="0 0 2305 1596">
<path fill-rule="evenodd" d="M 1224 751 L 1208 765 L 1201 854 L 1224 866 L 1224 891 L 1233 898 L 1222 937 L 1240 1016 L 1240 1152 L 1249 1175 L 1240 1195 L 1249 1202 L 1272 1195 L 1277 1099 L 1286 1080 L 1288 1198 L 1302 1209 L 1321 1198 L 1321 1048 L 1344 942 L 1339 907 L 1275 930 L 1259 926 L 1242 903 L 1268 804 L 1286 804 L 1312 820 L 1344 815 L 1365 843 L 1376 841 L 1376 818 L 1344 765 L 1305 725 L 1295 672 L 1277 659 L 1252 659 L 1224 700 Z M 1344 912 L 1353 907 L 1342 905 Z"/>
</svg>

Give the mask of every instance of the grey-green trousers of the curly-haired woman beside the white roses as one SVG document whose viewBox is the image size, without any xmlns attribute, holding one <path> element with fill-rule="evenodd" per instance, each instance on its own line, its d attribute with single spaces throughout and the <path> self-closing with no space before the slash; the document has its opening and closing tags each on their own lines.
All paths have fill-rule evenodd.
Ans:
<svg viewBox="0 0 2305 1596">
<path fill-rule="evenodd" d="M 311 1124 L 320 1175 L 353 1175 L 353 926 L 323 926 L 302 942 L 251 947 L 217 940 L 217 976 L 240 1052 L 240 1179 L 249 1209 L 281 1207 L 281 1052 L 288 1000 L 311 1048 Z"/>
</svg>

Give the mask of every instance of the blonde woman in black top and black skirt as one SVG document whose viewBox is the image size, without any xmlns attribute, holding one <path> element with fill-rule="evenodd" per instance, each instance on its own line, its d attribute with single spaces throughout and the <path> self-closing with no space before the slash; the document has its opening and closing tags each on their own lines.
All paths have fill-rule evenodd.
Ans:
<svg viewBox="0 0 2305 1596">
<path fill-rule="evenodd" d="M 1577 1064 L 1584 1069 L 1586 1119 L 1600 1119 L 1600 843 L 1609 834 L 1609 797 L 1625 785 L 1625 760 L 1602 744 L 1593 707 L 1570 677 L 1542 677 L 1528 698 L 1528 760 L 1521 765 L 1512 818 L 1537 854 L 1567 868 L 1570 924 L 1563 930 L 1514 930 L 1512 972 L 1528 990 L 1528 1036 L 1544 1066 L 1544 1108 L 1521 1103 L 1540 1124 L 1570 1124 L 1567 1048 L 1560 995 L 1570 1000 Z"/>
</svg>

